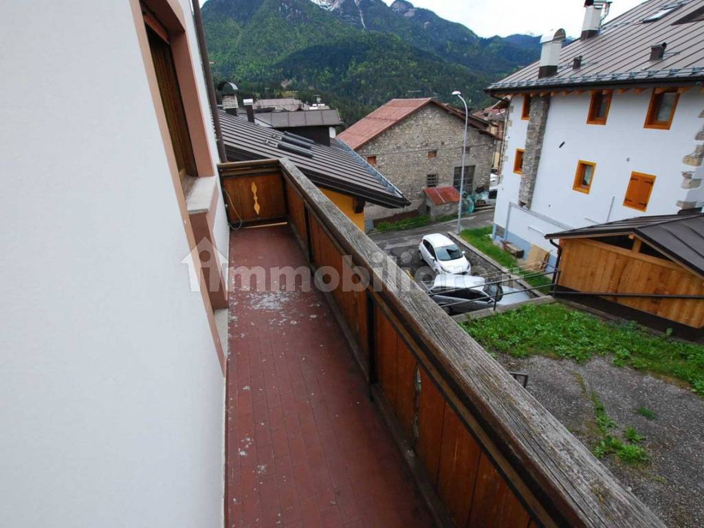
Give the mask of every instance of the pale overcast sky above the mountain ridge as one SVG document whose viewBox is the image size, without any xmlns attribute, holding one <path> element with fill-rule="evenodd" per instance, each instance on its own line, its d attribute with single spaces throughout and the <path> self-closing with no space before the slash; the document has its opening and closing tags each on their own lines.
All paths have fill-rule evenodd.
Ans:
<svg viewBox="0 0 704 528">
<path fill-rule="evenodd" d="M 394 0 L 384 0 L 393 4 Z M 615 0 L 609 18 L 643 0 Z M 466 25 L 482 37 L 513 33 L 543 34 L 562 27 L 579 37 L 584 21 L 584 0 L 410 0 L 416 7 L 435 11 L 442 18 Z"/>
</svg>

